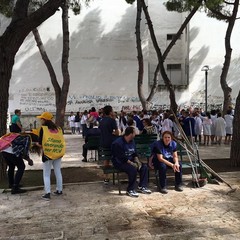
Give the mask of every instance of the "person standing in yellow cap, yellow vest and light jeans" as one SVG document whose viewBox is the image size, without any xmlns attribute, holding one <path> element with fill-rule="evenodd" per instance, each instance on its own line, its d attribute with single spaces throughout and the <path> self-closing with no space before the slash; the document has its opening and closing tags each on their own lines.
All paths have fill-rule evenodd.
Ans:
<svg viewBox="0 0 240 240">
<path fill-rule="evenodd" d="M 53 195 L 62 194 L 62 173 L 61 161 L 65 154 L 65 140 L 62 129 L 57 127 L 52 121 L 53 115 L 50 112 L 43 112 L 37 116 L 41 122 L 41 129 L 39 132 L 39 141 L 37 145 L 42 148 L 42 162 L 43 162 L 43 181 L 45 194 L 42 199 L 50 200 L 51 198 L 51 168 L 53 166 L 56 177 L 56 191 Z"/>
</svg>

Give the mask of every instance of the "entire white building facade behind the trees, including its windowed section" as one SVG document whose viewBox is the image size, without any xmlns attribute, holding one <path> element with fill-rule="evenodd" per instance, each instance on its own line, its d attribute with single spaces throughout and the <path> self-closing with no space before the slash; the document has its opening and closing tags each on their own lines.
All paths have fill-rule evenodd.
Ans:
<svg viewBox="0 0 240 240">
<path fill-rule="evenodd" d="M 177 32 L 186 13 L 167 12 L 164 0 L 148 1 L 149 13 L 159 46 L 164 52 L 171 37 Z M 144 14 L 144 13 L 142 13 Z M 1 32 L 7 21 L 1 17 Z M 83 7 L 81 14 L 70 13 L 71 84 L 67 112 L 84 111 L 107 104 L 116 111 L 141 110 L 137 93 L 138 62 L 136 51 L 136 4 L 124 0 L 98 0 Z M 152 85 L 157 56 L 142 15 L 142 48 L 144 55 L 144 92 L 147 96 Z M 198 12 L 181 35 L 166 59 L 166 69 L 176 88 L 177 103 L 182 107 L 204 106 L 203 65 L 209 65 L 208 102 L 213 106 L 223 102 L 220 74 L 224 61 L 224 36 L 227 24 Z M 236 22 L 232 37 L 232 63 L 228 84 L 233 88 L 233 101 L 239 92 L 240 46 Z M 39 27 L 46 52 L 62 82 L 61 13 L 56 13 Z M 169 106 L 169 94 L 159 79 L 159 91 L 152 101 L 153 108 Z M 19 108 L 23 114 L 36 115 L 55 111 L 55 93 L 33 35 L 20 48 L 10 83 L 9 112 Z"/>
</svg>

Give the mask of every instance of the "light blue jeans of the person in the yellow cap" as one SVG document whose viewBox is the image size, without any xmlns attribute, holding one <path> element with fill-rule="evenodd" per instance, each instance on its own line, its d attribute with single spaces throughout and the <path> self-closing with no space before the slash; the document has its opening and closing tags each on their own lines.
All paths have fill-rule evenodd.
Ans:
<svg viewBox="0 0 240 240">
<path fill-rule="evenodd" d="M 61 172 L 61 161 L 62 159 L 48 160 L 43 163 L 43 181 L 44 181 L 44 190 L 46 193 L 51 192 L 51 169 L 53 166 L 54 174 L 56 177 L 56 190 L 62 191 L 62 172 Z"/>
</svg>

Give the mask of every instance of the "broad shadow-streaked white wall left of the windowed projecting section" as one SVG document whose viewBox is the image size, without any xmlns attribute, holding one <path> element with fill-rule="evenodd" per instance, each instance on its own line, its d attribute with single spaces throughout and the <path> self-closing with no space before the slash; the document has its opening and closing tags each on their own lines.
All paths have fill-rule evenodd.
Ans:
<svg viewBox="0 0 240 240">
<path fill-rule="evenodd" d="M 137 95 L 136 5 L 123 0 L 109 2 L 93 1 L 89 8 L 83 8 L 81 15 L 71 14 L 67 111 L 106 104 L 116 110 L 122 106 L 141 108 Z M 61 80 L 61 13 L 40 26 L 39 32 Z M 145 66 L 147 91 L 147 63 Z M 32 36 L 17 54 L 10 93 L 10 111 L 17 107 L 27 113 L 55 110 L 53 87 Z"/>
</svg>

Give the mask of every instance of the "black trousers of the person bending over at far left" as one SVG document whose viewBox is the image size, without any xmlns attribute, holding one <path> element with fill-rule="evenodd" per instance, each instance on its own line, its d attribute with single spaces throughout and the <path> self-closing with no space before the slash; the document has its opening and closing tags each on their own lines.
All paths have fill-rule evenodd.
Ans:
<svg viewBox="0 0 240 240">
<path fill-rule="evenodd" d="M 16 157 L 14 154 L 7 152 L 2 152 L 2 155 L 8 165 L 9 186 L 18 188 L 25 170 L 25 163 L 23 161 L 23 158 L 22 156 Z M 17 172 L 14 176 L 15 167 L 17 167 Z"/>
</svg>

